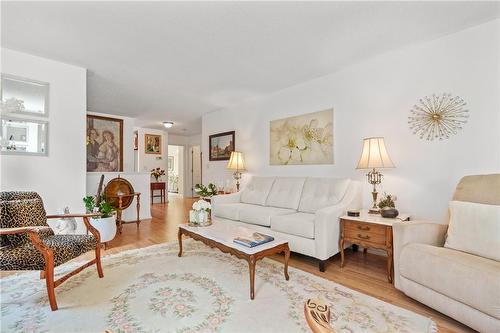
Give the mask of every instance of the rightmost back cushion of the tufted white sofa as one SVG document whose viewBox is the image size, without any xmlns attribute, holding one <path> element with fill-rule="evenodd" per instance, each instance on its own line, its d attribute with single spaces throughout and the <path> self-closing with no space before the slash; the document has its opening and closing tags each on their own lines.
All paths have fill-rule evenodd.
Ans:
<svg viewBox="0 0 500 333">
<path fill-rule="evenodd" d="M 318 209 L 338 204 L 350 182 L 346 178 L 307 178 L 302 189 L 299 211 L 314 213 Z"/>
</svg>

